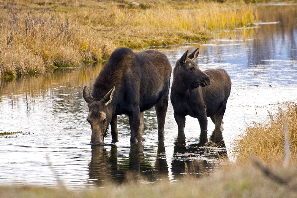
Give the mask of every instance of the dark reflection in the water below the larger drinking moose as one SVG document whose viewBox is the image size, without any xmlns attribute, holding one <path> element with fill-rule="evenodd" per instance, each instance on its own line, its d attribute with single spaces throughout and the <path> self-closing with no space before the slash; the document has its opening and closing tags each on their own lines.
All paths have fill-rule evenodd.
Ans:
<svg viewBox="0 0 297 198">
<path fill-rule="evenodd" d="M 118 159 L 118 148 L 111 145 L 110 152 L 106 145 L 92 145 L 92 157 L 89 163 L 89 178 L 91 183 L 102 185 L 106 182 L 122 183 L 125 180 L 138 181 L 146 179 L 156 181 L 168 178 L 168 165 L 165 156 L 164 141 L 159 140 L 155 167 L 152 167 L 144 157 L 144 146 L 140 142 L 132 142 L 129 157 Z"/>
</svg>

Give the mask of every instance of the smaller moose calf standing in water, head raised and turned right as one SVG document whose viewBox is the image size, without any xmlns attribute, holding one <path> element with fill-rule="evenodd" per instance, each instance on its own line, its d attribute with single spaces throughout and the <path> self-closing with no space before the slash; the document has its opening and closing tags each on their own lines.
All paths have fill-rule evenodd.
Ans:
<svg viewBox="0 0 297 198">
<path fill-rule="evenodd" d="M 201 132 L 207 132 L 207 117 L 220 128 L 230 95 L 231 80 L 223 69 L 201 71 L 194 62 L 199 48 L 187 50 L 173 70 L 170 100 L 178 132 L 184 132 L 186 117 L 198 118 Z"/>
</svg>

